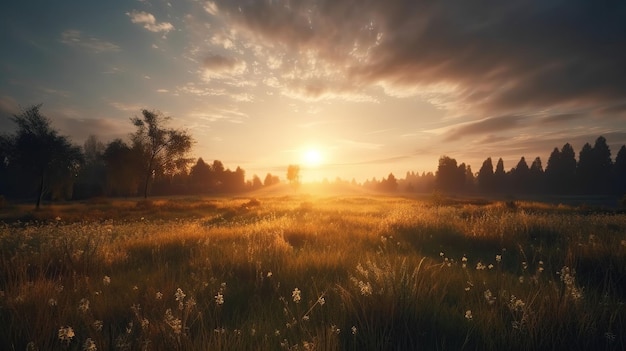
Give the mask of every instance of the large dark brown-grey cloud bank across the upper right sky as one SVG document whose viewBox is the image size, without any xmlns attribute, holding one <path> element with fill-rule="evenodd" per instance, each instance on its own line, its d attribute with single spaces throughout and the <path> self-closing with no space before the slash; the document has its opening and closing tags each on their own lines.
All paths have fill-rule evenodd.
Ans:
<svg viewBox="0 0 626 351">
<path fill-rule="evenodd" d="M 313 49 L 355 85 L 449 84 L 477 111 L 618 104 L 624 1 L 218 1 L 267 43 Z"/>
</svg>

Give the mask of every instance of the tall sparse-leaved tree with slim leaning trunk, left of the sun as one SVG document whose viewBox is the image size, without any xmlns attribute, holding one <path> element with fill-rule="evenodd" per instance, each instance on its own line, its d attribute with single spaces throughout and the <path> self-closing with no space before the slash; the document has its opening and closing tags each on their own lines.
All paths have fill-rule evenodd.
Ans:
<svg viewBox="0 0 626 351">
<path fill-rule="evenodd" d="M 159 175 L 173 175 L 185 169 L 189 163 L 186 158 L 193 139 L 187 132 L 165 128 L 170 119 L 160 112 L 142 110 L 142 117 L 133 117 L 131 121 L 137 131 L 132 134 L 133 147 L 142 155 L 144 172 L 144 198 L 148 197 L 150 181 Z"/>
</svg>

